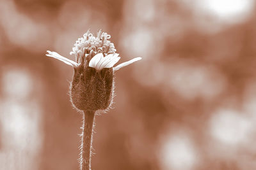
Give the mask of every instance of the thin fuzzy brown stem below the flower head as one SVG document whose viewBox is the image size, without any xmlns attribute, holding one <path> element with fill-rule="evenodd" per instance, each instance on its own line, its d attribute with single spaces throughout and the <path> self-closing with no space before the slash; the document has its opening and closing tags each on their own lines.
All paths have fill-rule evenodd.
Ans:
<svg viewBox="0 0 256 170">
<path fill-rule="evenodd" d="M 91 170 L 92 131 L 95 111 L 84 111 L 80 170 Z"/>
</svg>

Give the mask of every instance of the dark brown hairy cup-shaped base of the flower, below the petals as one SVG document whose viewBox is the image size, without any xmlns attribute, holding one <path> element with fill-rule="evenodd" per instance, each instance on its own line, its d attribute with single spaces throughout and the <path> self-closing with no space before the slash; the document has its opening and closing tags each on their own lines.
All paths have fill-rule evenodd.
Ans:
<svg viewBox="0 0 256 170">
<path fill-rule="evenodd" d="M 71 101 L 79 110 L 106 110 L 112 101 L 113 69 L 97 71 L 88 62 L 74 68 Z"/>
</svg>

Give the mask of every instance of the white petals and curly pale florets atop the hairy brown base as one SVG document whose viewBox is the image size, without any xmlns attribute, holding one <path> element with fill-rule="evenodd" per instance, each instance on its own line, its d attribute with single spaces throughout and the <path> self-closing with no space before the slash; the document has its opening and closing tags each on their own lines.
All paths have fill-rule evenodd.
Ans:
<svg viewBox="0 0 256 170">
<path fill-rule="evenodd" d="M 90 31 L 87 31 L 83 38 L 79 38 L 74 44 L 73 51 L 70 52 L 70 55 L 76 55 L 76 62 L 73 60 L 67 59 L 66 57 L 61 56 L 56 52 L 47 51 L 46 54 L 49 57 L 53 57 L 55 59 L 61 60 L 73 67 L 78 67 L 80 64 L 83 64 L 84 59 L 90 61 L 89 67 L 94 67 L 97 71 L 102 70 L 103 68 L 111 68 L 116 62 L 120 59 L 118 57 L 118 53 L 116 52 L 115 46 L 113 43 L 110 43 L 108 39 L 111 38 L 109 34 L 106 32 L 101 32 L 101 30 L 97 34 L 97 38 L 93 36 Z M 116 71 L 122 67 L 128 66 L 132 64 L 132 62 L 136 62 L 141 60 L 141 57 L 136 57 L 127 62 L 123 62 L 116 67 L 113 67 L 113 71 Z"/>
</svg>

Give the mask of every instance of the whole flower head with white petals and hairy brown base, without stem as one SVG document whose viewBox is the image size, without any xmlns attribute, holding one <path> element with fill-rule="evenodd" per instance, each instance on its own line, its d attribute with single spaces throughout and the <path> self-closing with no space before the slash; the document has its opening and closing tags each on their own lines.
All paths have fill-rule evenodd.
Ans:
<svg viewBox="0 0 256 170">
<path fill-rule="evenodd" d="M 97 37 L 87 31 L 78 38 L 70 55 L 76 55 L 76 62 L 56 52 L 47 51 L 49 57 L 61 60 L 74 67 L 70 88 L 72 104 L 78 110 L 106 110 L 113 100 L 113 72 L 141 60 L 136 57 L 113 67 L 120 57 L 106 32 L 97 32 Z"/>
</svg>

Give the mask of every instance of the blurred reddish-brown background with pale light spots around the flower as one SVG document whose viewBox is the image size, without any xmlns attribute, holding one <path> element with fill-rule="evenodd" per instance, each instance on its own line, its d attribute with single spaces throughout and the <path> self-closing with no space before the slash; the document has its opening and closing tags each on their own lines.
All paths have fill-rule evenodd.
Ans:
<svg viewBox="0 0 256 170">
<path fill-rule="evenodd" d="M 78 169 L 69 55 L 91 29 L 120 62 L 93 170 L 256 169 L 253 0 L 1 0 L 0 169 Z"/>
</svg>

